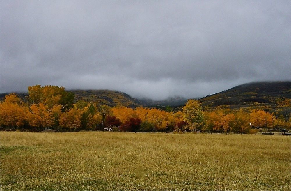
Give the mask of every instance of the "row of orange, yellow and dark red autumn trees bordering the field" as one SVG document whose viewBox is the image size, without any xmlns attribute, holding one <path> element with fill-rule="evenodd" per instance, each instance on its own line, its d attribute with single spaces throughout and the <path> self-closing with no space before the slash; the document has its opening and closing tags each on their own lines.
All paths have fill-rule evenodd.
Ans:
<svg viewBox="0 0 291 191">
<path fill-rule="evenodd" d="M 5 128 L 58 131 L 104 130 L 131 132 L 254 132 L 253 128 L 290 128 L 290 117 L 276 117 L 260 109 L 203 111 L 200 102 L 188 100 L 182 111 L 156 108 L 109 107 L 80 100 L 64 87 L 29 86 L 26 100 L 9 94 L 0 103 L 0 124 Z"/>
</svg>

